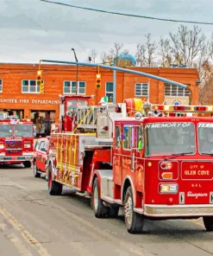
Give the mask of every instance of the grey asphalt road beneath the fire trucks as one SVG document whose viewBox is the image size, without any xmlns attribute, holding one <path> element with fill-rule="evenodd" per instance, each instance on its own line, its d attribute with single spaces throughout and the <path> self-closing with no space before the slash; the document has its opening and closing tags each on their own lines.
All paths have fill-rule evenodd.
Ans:
<svg viewBox="0 0 213 256">
<path fill-rule="evenodd" d="M 213 255 L 202 220 L 146 221 L 128 234 L 122 210 L 95 218 L 90 201 L 65 189 L 47 192 L 44 178 L 22 166 L 0 167 L 0 255 Z"/>
</svg>

